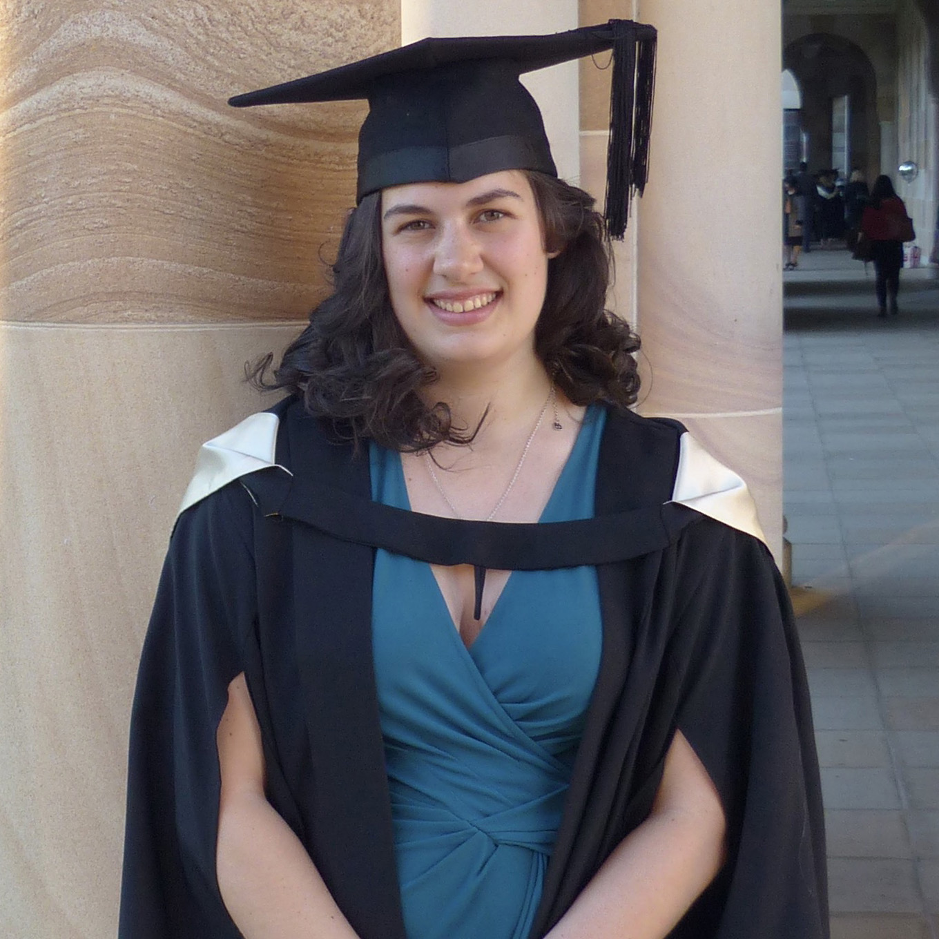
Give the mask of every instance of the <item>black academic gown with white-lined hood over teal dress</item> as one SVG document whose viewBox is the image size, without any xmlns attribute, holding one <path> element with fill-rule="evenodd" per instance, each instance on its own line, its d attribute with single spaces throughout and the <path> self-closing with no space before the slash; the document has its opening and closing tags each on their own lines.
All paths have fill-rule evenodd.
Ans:
<svg viewBox="0 0 939 939">
<path fill-rule="evenodd" d="M 271 805 L 362 939 L 406 939 L 371 646 L 377 547 L 485 570 L 595 564 L 603 652 L 531 936 L 645 819 L 674 732 L 727 816 L 675 939 L 824 939 L 822 802 L 792 609 L 739 477 L 680 424 L 608 415 L 595 516 L 513 525 L 370 500 L 368 457 L 285 399 L 210 441 L 131 720 L 121 939 L 236 939 L 215 877 L 215 731 L 245 673 Z"/>
</svg>

